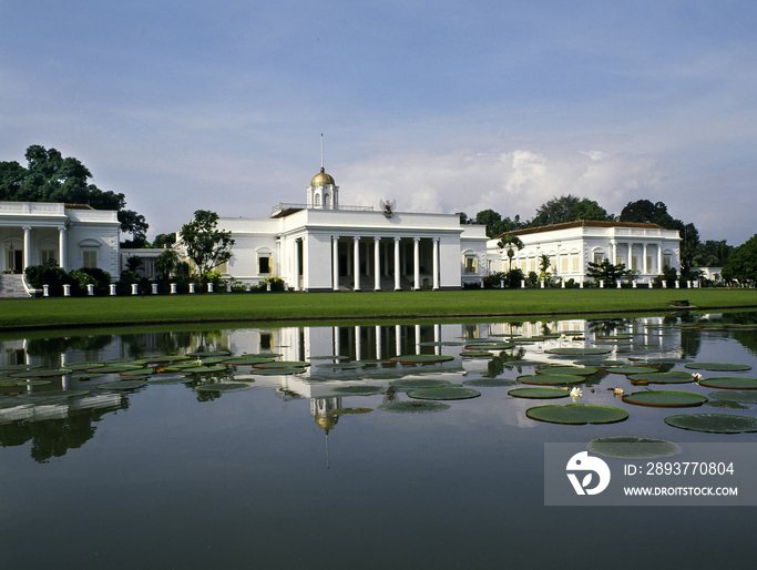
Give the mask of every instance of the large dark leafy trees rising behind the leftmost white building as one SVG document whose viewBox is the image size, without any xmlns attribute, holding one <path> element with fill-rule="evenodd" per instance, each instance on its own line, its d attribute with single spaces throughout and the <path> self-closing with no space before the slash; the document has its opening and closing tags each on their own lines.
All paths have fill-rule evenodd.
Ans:
<svg viewBox="0 0 757 570">
<path fill-rule="evenodd" d="M 125 210 L 126 197 L 103 192 L 89 180 L 92 173 L 78 159 L 63 157 L 55 149 L 32 144 L 27 149 L 24 169 L 18 162 L 0 162 L 0 201 L 62 202 L 88 204 L 95 210 L 116 210 L 121 231 L 134 243 L 145 242 L 149 224 L 144 216 Z"/>
</svg>

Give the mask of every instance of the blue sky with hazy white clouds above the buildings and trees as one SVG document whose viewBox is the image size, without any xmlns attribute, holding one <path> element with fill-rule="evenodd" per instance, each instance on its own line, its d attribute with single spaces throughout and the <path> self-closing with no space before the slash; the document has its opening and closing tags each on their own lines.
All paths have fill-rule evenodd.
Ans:
<svg viewBox="0 0 757 570">
<path fill-rule="evenodd" d="M 325 165 L 342 204 L 534 215 L 665 202 L 755 234 L 757 4 L 0 3 L 0 160 L 81 160 L 150 236 L 267 216 Z"/>
</svg>

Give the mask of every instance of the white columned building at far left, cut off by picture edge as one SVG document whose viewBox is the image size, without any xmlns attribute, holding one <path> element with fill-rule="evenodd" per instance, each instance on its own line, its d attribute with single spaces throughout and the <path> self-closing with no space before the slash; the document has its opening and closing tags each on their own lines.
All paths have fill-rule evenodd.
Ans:
<svg viewBox="0 0 757 570">
<path fill-rule="evenodd" d="M 65 271 L 99 267 L 120 277 L 117 212 L 50 202 L 0 202 L 1 273 L 55 259 Z"/>
</svg>

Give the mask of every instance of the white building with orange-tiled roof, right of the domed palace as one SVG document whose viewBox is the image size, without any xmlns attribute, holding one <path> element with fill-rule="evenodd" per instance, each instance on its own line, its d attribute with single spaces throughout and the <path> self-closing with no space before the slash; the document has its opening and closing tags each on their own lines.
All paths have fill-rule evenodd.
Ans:
<svg viewBox="0 0 757 570">
<path fill-rule="evenodd" d="M 520 251 L 513 246 L 512 267 L 520 268 L 525 276 L 539 273 L 542 255 L 549 256 L 554 279 L 575 283 L 592 281 L 586 276 L 589 263 L 602 263 L 605 258 L 638 272 L 635 281 L 640 284 L 652 283 L 665 267 L 681 269 L 678 232 L 657 224 L 583 220 L 507 232 L 487 243 L 492 272 L 509 268 L 508 248 L 497 245 L 505 235 L 523 242 Z"/>
</svg>

